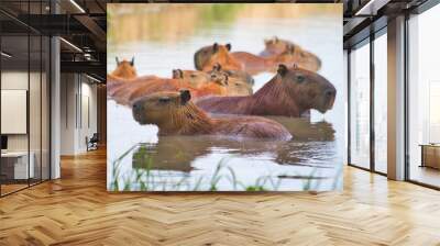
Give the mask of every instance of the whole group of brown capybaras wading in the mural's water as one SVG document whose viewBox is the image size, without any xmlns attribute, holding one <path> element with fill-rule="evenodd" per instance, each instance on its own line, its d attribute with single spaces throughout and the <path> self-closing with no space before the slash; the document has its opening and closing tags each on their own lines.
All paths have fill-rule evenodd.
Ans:
<svg viewBox="0 0 440 246">
<path fill-rule="evenodd" d="M 172 78 L 139 76 L 134 58 L 108 75 L 108 96 L 132 108 L 140 124 L 155 124 L 160 135 L 221 135 L 290 139 L 282 124 L 263 115 L 299 118 L 310 109 L 333 107 L 336 89 L 318 75 L 320 59 L 277 37 L 258 55 L 231 52 L 231 45 L 206 46 L 194 55 L 197 70 L 173 69 Z M 253 91 L 252 76 L 276 72 Z M 258 115 L 258 116 L 256 116 Z"/>
</svg>

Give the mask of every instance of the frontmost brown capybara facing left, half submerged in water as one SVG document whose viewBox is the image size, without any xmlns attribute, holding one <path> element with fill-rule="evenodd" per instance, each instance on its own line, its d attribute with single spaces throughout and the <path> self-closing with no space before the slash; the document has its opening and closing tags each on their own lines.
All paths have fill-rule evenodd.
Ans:
<svg viewBox="0 0 440 246">
<path fill-rule="evenodd" d="M 279 123 L 260 116 L 208 116 L 190 101 L 189 90 L 158 92 L 133 103 L 140 124 L 155 124 L 160 135 L 220 135 L 233 137 L 290 139 Z"/>
</svg>

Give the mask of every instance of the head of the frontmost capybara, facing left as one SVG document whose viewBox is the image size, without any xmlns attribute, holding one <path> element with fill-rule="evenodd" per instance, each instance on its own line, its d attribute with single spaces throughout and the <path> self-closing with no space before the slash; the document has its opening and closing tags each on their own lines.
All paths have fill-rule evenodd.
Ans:
<svg viewBox="0 0 440 246">
<path fill-rule="evenodd" d="M 182 120 L 179 114 L 186 110 L 190 99 L 189 90 L 185 89 L 179 92 L 153 93 L 133 103 L 133 118 L 141 125 L 170 126 Z"/>
</svg>

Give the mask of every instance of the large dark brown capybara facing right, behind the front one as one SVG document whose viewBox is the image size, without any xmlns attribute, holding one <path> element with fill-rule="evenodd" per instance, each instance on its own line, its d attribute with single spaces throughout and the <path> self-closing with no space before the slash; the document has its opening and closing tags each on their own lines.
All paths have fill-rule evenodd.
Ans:
<svg viewBox="0 0 440 246">
<path fill-rule="evenodd" d="M 322 76 L 279 65 L 262 89 L 248 97 L 207 97 L 196 104 L 210 113 L 284 115 L 298 118 L 310 109 L 321 113 L 333 107 L 337 90 Z"/>
</svg>

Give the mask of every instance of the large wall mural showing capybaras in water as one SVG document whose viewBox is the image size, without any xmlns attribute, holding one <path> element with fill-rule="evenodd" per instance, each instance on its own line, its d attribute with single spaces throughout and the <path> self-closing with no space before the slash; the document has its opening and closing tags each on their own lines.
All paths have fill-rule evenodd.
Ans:
<svg viewBox="0 0 440 246">
<path fill-rule="evenodd" d="M 108 190 L 341 189 L 342 36 L 342 4 L 108 4 Z"/>
</svg>

